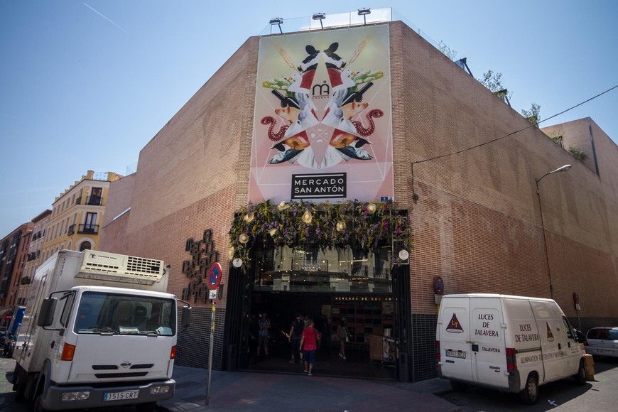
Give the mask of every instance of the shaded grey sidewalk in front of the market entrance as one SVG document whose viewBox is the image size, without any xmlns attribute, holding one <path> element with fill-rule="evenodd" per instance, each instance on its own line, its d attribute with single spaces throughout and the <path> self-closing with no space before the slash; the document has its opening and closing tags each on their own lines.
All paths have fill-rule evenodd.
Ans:
<svg viewBox="0 0 618 412">
<path fill-rule="evenodd" d="M 449 391 L 442 379 L 416 384 L 399 381 L 328 378 L 305 374 L 212 371 L 206 406 L 207 369 L 174 367 L 173 399 L 158 411 L 416 411 L 459 408 L 434 394 Z"/>
</svg>

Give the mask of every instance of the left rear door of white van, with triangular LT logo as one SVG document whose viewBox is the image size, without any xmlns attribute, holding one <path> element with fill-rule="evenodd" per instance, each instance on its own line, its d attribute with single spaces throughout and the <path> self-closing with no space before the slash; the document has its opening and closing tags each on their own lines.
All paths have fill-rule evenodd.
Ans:
<svg viewBox="0 0 618 412">
<path fill-rule="evenodd" d="M 438 338 L 442 374 L 447 378 L 472 380 L 470 354 L 470 299 L 443 298 Z"/>
</svg>

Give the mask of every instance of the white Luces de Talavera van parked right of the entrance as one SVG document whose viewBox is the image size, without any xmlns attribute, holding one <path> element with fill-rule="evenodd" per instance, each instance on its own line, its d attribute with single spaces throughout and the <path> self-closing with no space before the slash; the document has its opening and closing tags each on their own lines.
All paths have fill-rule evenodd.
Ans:
<svg viewBox="0 0 618 412">
<path fill-rule="evenodd" d="M 438 374 L 454 389 L 486 386 L 536 403 L 539 385 L 568 376 L 585 384 L 578 335 L 551 299 L 445 295 L 436 328 Z"/>
</svg>

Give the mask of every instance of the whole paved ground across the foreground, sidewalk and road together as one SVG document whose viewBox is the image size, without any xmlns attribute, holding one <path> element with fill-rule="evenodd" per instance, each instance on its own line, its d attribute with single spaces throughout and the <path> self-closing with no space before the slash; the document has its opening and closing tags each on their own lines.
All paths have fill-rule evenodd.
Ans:
<svg viewBox="0 0 618 412">
<path fill-rule="evenodd" d="M 15 361 L 0 357 L 0 411 L 30 411 L 16 403 L 10 383 Z M 176 367 L 177 390 L 158 411 L 367 411 L 369 408 L 444 412 L 615 411 L 618 359 L 595 359 L 595 380 L 578 386 L 570 379 L 541 386 L 536 405 L 526 406 L 515 394 L 482 388 L 450 390 L 448 381 L 430 379 L 416 384 L 369 379 L 325 378 L 303 374 L 213 371 L 210 405 L 205 406 L 207 371 Z M 131 407 L 106 408 L 129 412 Z"/>
</svg>

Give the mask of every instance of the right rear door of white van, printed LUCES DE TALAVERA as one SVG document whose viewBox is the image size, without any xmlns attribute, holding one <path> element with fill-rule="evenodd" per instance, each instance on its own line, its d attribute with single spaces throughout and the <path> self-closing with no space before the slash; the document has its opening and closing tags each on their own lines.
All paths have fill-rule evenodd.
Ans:
<svg viewBox="0 0 618 412">
<path fill-rule="evenodd" d="M 472 376 L 475 382 L 509 387 L 504 320 L 498 298 L 470 298 Z"/>
</svg>

